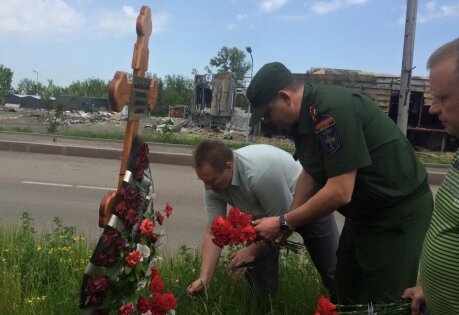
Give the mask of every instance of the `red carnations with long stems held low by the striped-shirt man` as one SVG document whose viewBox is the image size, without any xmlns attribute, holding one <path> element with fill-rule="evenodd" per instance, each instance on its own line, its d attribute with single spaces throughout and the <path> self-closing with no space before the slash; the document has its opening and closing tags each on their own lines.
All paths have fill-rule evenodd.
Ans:
<svg viewBox="0 0 459 315">
<path fill-rule="evenodd" d="M 406 301 L 386 304 L 333 304 L 330 299 L 320 296 L 317 301 L 317 311 L 314 315 L 409 315 L 411 303 Z"/>
</svg>

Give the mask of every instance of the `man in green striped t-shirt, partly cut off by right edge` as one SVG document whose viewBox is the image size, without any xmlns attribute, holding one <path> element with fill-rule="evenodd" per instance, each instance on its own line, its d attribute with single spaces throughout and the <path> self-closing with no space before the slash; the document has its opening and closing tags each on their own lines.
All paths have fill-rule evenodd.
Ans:
<svg viewBox="0 0 459 315">
<path fill-rule="evenodd" d="M 446 132 L 459 137 L 459 38 L 438 48 L 427 68 L 433 96 L 429 113 L 438 116 Z M 459 150 L 435 196 L 420 271 L 422 287 L 403 294 L 413 300 L 413 315 L 423 301 L 434 315 L 459 314 Z"/>
</svg>

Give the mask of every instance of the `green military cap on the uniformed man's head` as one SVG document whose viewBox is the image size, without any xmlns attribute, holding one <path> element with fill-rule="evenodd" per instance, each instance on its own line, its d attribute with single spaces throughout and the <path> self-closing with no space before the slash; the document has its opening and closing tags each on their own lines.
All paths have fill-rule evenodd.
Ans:
<svg viewBox="0 0 459 315">
<path fill-rule="evenodd" d="M 267 63 L 258 70 L 246 92 L 252 105 L 250 126 L 261 121 L 269 103 L 276 98 L 277 92 L 287 87 L 292 80 L 292 73 L 280 62 Z"/>
</svg>

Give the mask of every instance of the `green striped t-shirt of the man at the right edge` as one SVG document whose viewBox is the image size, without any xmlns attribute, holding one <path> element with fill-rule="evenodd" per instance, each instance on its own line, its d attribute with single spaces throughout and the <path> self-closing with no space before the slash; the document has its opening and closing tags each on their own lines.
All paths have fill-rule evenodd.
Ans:
<svg viewBox="0 0 459 315">
<path fill-rule="evenodd" d="M 435 196 L 421 283 L 432 314 L 459 314 L 459 151 Z"/>
</svg>

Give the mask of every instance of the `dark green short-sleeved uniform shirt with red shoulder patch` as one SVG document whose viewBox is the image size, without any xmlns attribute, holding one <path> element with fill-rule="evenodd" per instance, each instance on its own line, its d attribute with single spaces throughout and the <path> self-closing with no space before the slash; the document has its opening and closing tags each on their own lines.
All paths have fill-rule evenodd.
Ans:
<svg viewBox="0 0 459 315">
<path fill-rule="evenodd" d="M 427 174 L 411 144 L 362 94 L 339 86 L 305 85 L 292 137 L 296 156 L 319 185 L 357 170 L 352 200 L 340 209 L 347 217 L 371 217 L 417 190 L 429 189 L 422 185 Z"/>
</svg>

